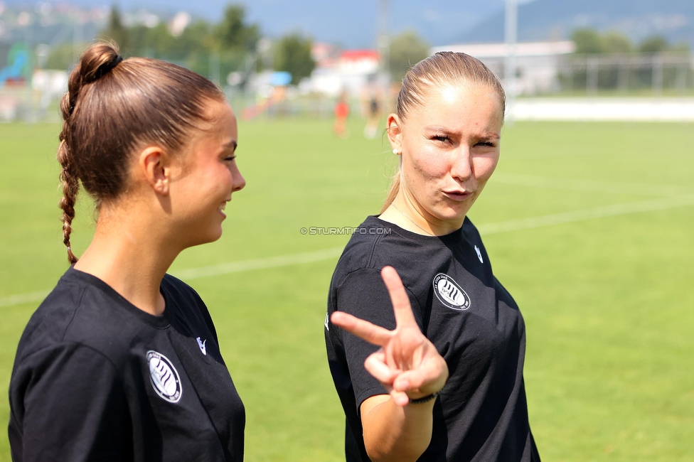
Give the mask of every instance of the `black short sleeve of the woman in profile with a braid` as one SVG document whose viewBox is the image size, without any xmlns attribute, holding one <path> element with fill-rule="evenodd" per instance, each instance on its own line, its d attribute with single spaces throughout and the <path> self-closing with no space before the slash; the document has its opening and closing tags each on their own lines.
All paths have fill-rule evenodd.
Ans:
<svg viewBox="0 0 694 462">
<path fill-rule="evenodd" d="M 122 382 L 84 345 L 58 345 L 16 366 L 10 385 L 14 461 L 121 461 L 132 457 Z"/>
</svg>

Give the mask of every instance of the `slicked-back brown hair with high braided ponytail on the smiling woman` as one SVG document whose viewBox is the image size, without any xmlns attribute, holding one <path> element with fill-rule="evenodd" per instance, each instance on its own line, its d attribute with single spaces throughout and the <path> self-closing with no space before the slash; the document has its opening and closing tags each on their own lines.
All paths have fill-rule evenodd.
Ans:
<svg viewBox="0 0 694 462">
<path fill-rule="evenodd" d="M 127 188 L 134 149 L 153 143 L 172 154 L 181 151 L 189 131 L 205 120 L 208 100 L 225 96 L 191 70 L 146 58 L 123 60 L 112 42 L 87 48 L 60 101 L 60 208 L 70 264 L 78 261 L 70 233 L 80 183 L 99 210 Z"/>
</svg>

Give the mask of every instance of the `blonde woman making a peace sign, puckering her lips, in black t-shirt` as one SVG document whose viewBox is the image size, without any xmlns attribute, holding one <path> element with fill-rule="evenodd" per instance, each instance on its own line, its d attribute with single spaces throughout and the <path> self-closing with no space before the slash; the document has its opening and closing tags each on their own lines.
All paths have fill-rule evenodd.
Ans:
<svg viewBox="0 0 694 462">
<path fill-rule="evenodd" d="M 328 300 L 350 462 L 540 460 L 523 318 L 466 217 L 496 168 L 504 107 L 497 77 L 463 53 L 430 56 L 402 82 L 387 121 L 399 171 Z"/>
</svg>

